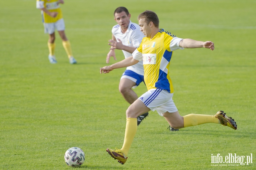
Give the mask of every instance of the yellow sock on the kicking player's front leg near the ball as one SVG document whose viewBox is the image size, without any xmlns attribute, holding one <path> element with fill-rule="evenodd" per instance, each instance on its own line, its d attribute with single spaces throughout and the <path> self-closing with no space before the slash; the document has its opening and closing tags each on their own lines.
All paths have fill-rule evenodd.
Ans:
<svg viewBox="0 0 256 170">
<path fill-rule="evenodd" d="M 137 127 L 137 118 L 126 119 L 125 138 L 123 142 L 123 147 L 121 148 L 125 156 L 128 155 L 129 149 L 131 148 L 133 138 L 135 137 L 135 134 L 137 132 Z"/>
</svg>

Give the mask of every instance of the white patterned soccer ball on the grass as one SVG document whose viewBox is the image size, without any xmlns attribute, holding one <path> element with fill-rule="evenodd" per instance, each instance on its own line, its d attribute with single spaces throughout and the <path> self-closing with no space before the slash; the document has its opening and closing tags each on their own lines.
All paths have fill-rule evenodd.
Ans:
<svg viewBox="0 0 256 170">
<path fill-rule="evenodd" d="M 77 147 L 69 148 L 64 155 L 65 162 L 70 167 L 80 167 L 84 163 L 84 157 L 84 152 Z"/>
</svg>

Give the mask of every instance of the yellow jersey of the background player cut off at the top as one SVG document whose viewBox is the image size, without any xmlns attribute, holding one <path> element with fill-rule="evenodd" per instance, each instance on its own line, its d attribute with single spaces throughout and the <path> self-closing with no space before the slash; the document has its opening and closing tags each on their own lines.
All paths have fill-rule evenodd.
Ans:
<svg viewBox="0 0 256 170">
<path fill-rule="evenodd" d="M 43 22 L 45 23 L 56 22 L 57 20 L 63 18 L 59 0 L 36 0 L 36 8 L 46 8 L 50 12 L 58 12 L 58 15 L 53 18 L 42 11 Z"/>
</svg>

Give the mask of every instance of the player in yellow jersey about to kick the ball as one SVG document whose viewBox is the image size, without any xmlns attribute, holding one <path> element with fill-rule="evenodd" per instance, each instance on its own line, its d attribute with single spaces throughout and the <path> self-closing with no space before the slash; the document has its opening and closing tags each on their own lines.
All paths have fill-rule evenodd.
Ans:
<svg viewBox="0 0 256 170">
<path fill-rule="evenodd" d="M 123 147 L 113 150 L 107 148 L 107 152 L 118 162 L 124 164 L 137 131 L 137 117 L 150 110 L 156 110 L 160 116 L 164 116 L 171 127 L 180 129 L 196 126 L 204 123 L 218 123 L 232 129 L 237 129 L 236 122 L 226 116 L 223 111 L 215 115 L 189 114 L 180 116 L 172 96 L 173 86 L 169 76 L 169 64 L 172 51 L 184 48 L 207 48 L 214 50 L 211 41 L 196 41 L 193 39 L 181 39 L 159 29 L 158 16 L 153 11 L 145 11 L 138 16 L 139 26 L 145 37 L 132 56 L 100 68 L 100 73 L 109 73 L 113 69 L 131 66 L 143 60 L 144 81 L 148 91 L 141 95 L 126 111 L 126 128 Z"/>
</svg>

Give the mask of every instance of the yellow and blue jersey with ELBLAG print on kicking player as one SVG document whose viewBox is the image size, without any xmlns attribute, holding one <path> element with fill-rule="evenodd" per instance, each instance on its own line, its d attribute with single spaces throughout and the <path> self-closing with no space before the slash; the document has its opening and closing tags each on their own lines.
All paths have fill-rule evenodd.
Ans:
<svg viewBox="0 0 256 170">
<path fill-rule="evenodd" d="M 152 39 L 144 37 L 137 50 L 133 53 L 133 58 L 137 60 L 141 60 L 142 54 L 144 81 L 148 90 L 164 89 L 169 93 L 173 93 L 169 66 L 173 54 L 170 44 L 175 38 L 177 38 L 175 35 L 161 29 Z M 175 44 L 176 47 L 174 49 L 183 49 L 177 44 Z"/>
</svg>

